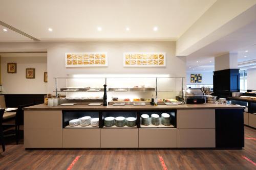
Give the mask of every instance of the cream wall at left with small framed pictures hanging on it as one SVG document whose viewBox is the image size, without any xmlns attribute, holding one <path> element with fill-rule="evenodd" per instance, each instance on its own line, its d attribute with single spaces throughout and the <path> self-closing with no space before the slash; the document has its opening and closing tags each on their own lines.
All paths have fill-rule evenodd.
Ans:
<svg viewBox="0 0 256 170">
<path fill-rule="evenodd" d="M 17 73 L 7 73 L 7 63 L 17 63 Z M 35 68 L 35 79 L 26 79 L 26 68 Z M 47 57 L 1 57 L 1 82 L 6 94 L 45 94 Z"/>
</svg>

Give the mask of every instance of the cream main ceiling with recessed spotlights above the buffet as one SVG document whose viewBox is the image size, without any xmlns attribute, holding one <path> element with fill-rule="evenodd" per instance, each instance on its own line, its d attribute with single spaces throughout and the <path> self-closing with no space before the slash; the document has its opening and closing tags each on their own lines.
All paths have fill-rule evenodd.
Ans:
<svg viewBox="0 0 256 170">
<path fill-rule="evenodd" d="M 43 41 L 177 40 L 216 0 L 8 0 L 0 21 Z M 102 31 L 98 31 L 98 27 Z M 126 31 L 129 27 L 130 31 Z M 157 27 L 158 31 L 153 31 Z M 53 31 L 49 32 L 48 29 Z M 28 41 L 0 30 L 0 41 Z"/>
</svg>

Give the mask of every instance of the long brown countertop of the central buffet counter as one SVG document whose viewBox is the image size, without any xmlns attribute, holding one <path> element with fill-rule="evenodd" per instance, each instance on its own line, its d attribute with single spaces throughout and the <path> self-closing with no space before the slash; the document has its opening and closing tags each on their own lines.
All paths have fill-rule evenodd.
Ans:
<svg viewBox="0 0 256 170">
<path fill-rule="evenodd" d="M 158 105 L 158 106 L 88 106 L 88 105 L 74 105 L 74 106 L 55 106 L 48 107 L 45 104 L 34 105 L 23 108 L 24 110 L 167 110 L 167 109 L 245 109 L 243 106 L 225 105 L 225 104 L 184 104 L 184 105 Z"/>
</svg>

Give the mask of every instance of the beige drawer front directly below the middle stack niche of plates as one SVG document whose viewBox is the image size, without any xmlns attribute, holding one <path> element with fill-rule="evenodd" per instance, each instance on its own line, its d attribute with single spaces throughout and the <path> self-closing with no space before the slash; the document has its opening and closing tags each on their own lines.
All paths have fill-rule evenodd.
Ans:
<svg viewBox="0 0 256 170">
<path fill-rule="evenodd" d="M 138 148 L 138 129 L 101 129 L 101 148 Z"/>
</svg>

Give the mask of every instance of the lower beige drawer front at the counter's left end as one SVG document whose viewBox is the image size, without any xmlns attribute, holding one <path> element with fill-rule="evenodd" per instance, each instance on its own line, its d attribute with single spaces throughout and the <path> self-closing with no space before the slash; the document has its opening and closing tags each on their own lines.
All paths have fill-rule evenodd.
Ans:
<svg viewBox="0 0 256 170">
<path fill-rule="evenodd" d="M 24 130 L 25 148 L 62 148 L 61 129 Z"/>
</svg>

